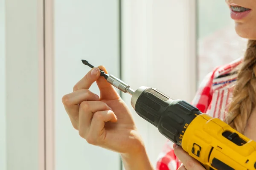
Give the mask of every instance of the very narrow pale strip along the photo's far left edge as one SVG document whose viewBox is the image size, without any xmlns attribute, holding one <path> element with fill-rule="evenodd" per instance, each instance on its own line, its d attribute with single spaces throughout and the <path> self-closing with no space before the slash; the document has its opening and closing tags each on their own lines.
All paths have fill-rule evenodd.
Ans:
<svg viewBox="0 0 256 170">
<path fill-rule="evenodd" d="M 5 0 L 0 0 L 0 170 L 6 170 Z"/>
</svg>

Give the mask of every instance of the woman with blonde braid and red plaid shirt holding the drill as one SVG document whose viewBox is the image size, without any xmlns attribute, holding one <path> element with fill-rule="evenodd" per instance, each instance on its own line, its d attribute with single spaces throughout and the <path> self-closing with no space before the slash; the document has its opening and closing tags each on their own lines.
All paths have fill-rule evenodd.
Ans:
<svg viewBox="0 0 256 170">
<path fill-rule="evenodd" d="M 256 0 L 226 2 L 237 34 L 249 39 L 247 51 L 244 58 L 208 74 L 193 105 L 256 140 Z M 99 68 L 107 72 L 103 66 Z M 113 86 L 100 77 L 99 68 L 89 71 L 74 86 L 73 93 L 62 99 L 73 127 L 88 143 L 120 153 L 126 170 L 153 170 L 131 112 Z M 88 90 L 95 81 L 100 97 Z M 159 156 L 158 170 L 204 170 L 181 147 L 170 143 Z"/>
</svg>

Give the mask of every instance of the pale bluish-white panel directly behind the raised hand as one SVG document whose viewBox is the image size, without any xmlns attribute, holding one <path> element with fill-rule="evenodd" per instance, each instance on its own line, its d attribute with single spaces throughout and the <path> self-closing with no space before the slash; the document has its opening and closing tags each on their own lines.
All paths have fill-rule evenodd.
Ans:
<svg viewBox="0 0 256 170">
<path fill-rule="evenodd" d="M 81 59 L 119 76 L 118 0 L 55 0 L 55 170 L 119 170 L 119 155 L 87 144 L 61 102 L 87 71 Z M 91 90 L 98 94 L 94 84 Z"/>
</svg>

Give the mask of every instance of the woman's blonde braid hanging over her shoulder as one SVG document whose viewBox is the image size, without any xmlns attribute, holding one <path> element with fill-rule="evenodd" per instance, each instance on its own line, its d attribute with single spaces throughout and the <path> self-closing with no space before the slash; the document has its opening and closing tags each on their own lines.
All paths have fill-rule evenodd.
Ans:
<svg viewBox="0 0 256 170">
<path fill-rule="evenodd" d="M 256 40 L 249 40 L 243 64 L 230 103 L 227 123 L 244 133 L 251 112 L 256 106 Z"/>
</svg>

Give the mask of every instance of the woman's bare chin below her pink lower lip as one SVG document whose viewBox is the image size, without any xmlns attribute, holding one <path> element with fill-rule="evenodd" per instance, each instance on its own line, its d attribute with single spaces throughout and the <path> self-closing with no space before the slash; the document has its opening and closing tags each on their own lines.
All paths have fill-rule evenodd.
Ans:
<svg viewBox="0 0 256 170">
<path fill-rule="evenodd" d="M 245 23 L 235 23 L 236 34 L 242 38 L 256 40 L 256 29 L 247 26 Z"/>
</svg>

